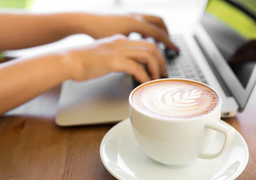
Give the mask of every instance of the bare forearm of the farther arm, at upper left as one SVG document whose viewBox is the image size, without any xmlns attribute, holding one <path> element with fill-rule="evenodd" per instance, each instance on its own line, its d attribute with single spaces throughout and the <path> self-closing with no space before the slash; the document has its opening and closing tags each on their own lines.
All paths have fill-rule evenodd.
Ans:
<svg viewBox="0 0 256 180">
<path fill-rule="evenodd" d="M 83 14 L 83 20 L 90 19 Z M 88 16 L 88 18 L 87 18 Z M 0 11 L 0 50 L 29 48 L 84 33 L 81 14 L 34 14 Z"/>
</svg>

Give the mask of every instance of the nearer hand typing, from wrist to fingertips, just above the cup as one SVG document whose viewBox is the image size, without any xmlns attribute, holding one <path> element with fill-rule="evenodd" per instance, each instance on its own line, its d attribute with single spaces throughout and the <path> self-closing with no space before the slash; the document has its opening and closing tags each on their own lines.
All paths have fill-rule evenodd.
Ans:
<svg viewBox="0 0 256 180">
<path fill-rule="evenodd" d="M 84 81 L 110 72 L 125 72 L 139 82 L 167 76 L 166 62 L 153 43 L 130 41 L 124 35 L 99 39 L 92 45 L 71 49 L 67 52 L 71 78 Z M 143 68 L 146 64 L 150 75 Z"/>
</svg>

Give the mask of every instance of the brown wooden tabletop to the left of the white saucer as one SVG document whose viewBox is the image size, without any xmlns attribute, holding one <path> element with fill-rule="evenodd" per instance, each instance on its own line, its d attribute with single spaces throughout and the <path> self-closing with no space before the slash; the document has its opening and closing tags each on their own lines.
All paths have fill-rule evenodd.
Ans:
<svg viewBox="0 0 256 180">
<path fill-rule="evenodd" d="M 100 142 L 112 125 L 61 128 L 54 119 L 0 120 L 1 180 L 114 180 L 102 165 Z"/>
</svg>

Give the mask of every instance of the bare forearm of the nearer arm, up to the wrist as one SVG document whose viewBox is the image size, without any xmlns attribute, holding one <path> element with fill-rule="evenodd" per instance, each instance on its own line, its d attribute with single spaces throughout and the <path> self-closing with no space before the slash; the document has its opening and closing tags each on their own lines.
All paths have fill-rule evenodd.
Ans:
<svg viewBox="0 0 256 180">
<path fill-rule="evenodd" d="M 0 114 L 69 79 L 66 59 L 55 53 L 0 64 Z"/>
</svg>

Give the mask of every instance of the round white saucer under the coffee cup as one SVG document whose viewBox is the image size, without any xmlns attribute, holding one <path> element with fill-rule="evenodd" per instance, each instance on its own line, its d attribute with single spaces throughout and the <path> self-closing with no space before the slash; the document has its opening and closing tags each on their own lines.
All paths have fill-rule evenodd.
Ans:
<svg viewBox="0 0 256 180">
<path fill-rule="evenodd" d="M 217 133 L 207 151 L 217 152 L 223 142 L 224 135 Z M 118 180 L 234 180 L 246 167 L 249 152 L 244 138 L 236 131 L 233 144 L 220 157 L 198 159 L 185 168 L 169 169 L 145 155 L 134 138 L 130 119 L 126 119 L 105 135 L 100 156 L 105 168 Z"/>
</svg>

